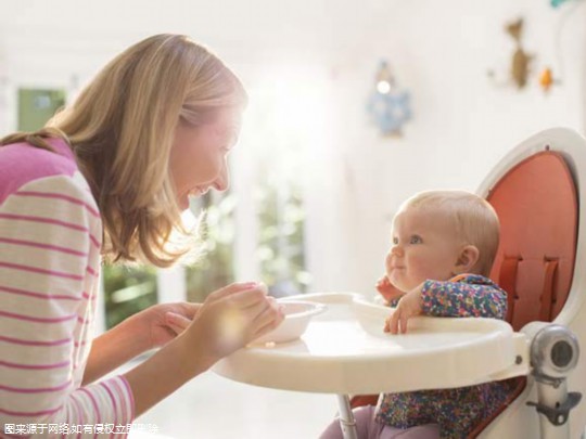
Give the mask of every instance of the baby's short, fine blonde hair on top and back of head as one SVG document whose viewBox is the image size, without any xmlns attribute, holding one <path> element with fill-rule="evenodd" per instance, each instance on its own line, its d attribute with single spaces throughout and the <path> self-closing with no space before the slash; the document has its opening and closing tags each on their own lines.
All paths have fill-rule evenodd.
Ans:
<svg viewBox="0 0 586 439">
<path fill-rule="evenodd" d="M 425 191 L 408 198 L 399 211 L 412 208 L 445 214 L 462 244 L 479 249 L 479 260 L 472 271 L 484 276 L 491 274 L 500 225 L 495 209 L 486 199 L 466 191 Z"/>
</svg>

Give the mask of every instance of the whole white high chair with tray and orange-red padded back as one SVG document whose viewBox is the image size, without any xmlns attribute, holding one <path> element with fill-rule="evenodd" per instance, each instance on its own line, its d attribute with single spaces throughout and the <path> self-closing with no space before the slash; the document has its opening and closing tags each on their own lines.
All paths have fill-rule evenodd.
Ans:
<svg viewBox="0 0 586 439">
<path fill-rule="evenodd" d="M 296 299 L 326 304 L 301 339 L 253 346 L 216 364 L 228 378 L 336 393 L 345 438 L 356 438 L 347 395 L 511 386 L 480 438 L 579 438 L 586 426 L 586 139 L 539 132 L 511 151 L 477 193 L 495 207 L 501 241 L 492 277 L 508 293 L 507 322 L 421 317 L 407 334 L 382 332 L 386 307 L 352 293 Z M 581 215 L 583 214 L 583 215 Z M 583 345 L 584 346 L 584 345 Z M 353 405 L 369 397 L 353 398 Z M 375 397 L 371 403 L 375 402 Z"/>
</svg>

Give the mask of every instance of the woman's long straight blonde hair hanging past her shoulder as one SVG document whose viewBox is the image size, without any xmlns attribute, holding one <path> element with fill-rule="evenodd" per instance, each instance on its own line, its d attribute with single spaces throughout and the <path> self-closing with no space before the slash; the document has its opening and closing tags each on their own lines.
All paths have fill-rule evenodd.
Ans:
<svg viewBox="0 0 586 439">
<path fill-rule="evenodd" d="M 168 170 L 176 128 L 245 104 L 240 80 L 218 57 L 186 36 L 157 35 L 111 61 L 43 130 L 0 143 L 51 150 L 47 137 L 65 139 L 100 207 L 104 257 L 168 267 L 194 237 L 182 225 Z"/>
</svg>

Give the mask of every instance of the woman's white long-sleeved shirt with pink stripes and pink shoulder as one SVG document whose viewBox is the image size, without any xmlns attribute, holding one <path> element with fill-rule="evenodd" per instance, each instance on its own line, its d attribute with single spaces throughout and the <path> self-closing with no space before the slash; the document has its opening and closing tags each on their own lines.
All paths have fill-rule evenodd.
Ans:
<svg viewBox="0 0 586 439">
<path fill-rule="evenodd" d="M 0 147 L 0 436 L 23 424 L 43 437 L 67 435 L 39 425 L 120 431 L 116 426 L 133 419 L 123 376 L 81 387 L 102 222 L 72 151 L 51 142 L 56 153 L 26 143 Z M 77 430 L 72 437 L 114 436 Z"/>
</svg>

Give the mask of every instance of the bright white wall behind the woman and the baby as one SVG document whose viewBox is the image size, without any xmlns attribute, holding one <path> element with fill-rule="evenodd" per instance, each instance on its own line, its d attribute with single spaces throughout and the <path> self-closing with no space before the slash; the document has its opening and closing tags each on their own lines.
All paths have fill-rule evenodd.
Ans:
<svg viewBox="0 0 586 439">
<path fill-rule="evenodd" d="M 126 46 L 161 31 L 206 43 L 252 87 L 269 80 L 260 78 L 273 66 L 319 72 L 330 81 L 331 115 L 321 127 L 326 144 L 310 145 L 311 172 L 320 176 L 308 194 L 314 289 L 372 292 L 392 215 L 405 197 L 429 188 L 474 190 L 537 130 L 563 125 L 584 132 L 584 3 L 552 10 L 546 0 L 3 0 L 0 77 L 13 105 L 18 86 L 75 87 L 73 77 L 87 80 Z M 549 95 L 536 86 L 536 72 L 520 92 L 486 77 L 487 69 L 505 76 L 513 44 L 502 26 L 520 15 L 535 70 L 552 64 L 559 72 L 563 62 L 563 85 Z M 412 95 L 413 120 L 398 140 L 379 137 L 365 113 L 381 57 Z M 0 113 L 0 128 L 14 122 Z"/>
</svg>

